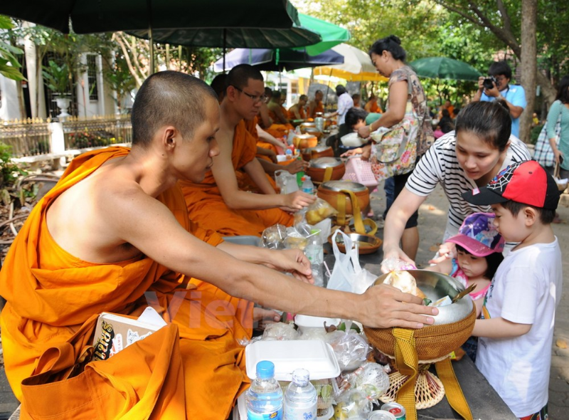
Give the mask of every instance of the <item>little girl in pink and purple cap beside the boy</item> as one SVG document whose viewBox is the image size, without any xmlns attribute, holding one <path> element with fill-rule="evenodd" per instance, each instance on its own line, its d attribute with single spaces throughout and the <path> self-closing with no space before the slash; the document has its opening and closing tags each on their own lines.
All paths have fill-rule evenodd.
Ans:
<svg viewBox="0 0 569 420">
<path fill-rule="evenodd" d="M 469 293 L 476 305 L 477 317 L 482 311 L 484 297 L 496 269 L 504 259 L 504 238 L 494 227 L 494 214 L 474 213 L 464 219 L 458 235 L 448 240 L 457 246 L 457 258 L 445 259 L 426 268 L 448 274 L 459 280 L 465 288 L 475 284 Z"/>
</svg>

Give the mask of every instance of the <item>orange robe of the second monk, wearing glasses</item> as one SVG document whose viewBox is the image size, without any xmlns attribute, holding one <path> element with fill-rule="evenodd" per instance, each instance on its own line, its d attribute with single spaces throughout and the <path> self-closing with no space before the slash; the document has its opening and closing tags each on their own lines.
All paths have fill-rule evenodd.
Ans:
<svg viewBox="0 0 569 420">
<path fill-rule="evenodd" d="M 250 135 L 245 121 L 235 127 L 231 163 L 238 177 L 238 186 L 245 191 L 248 177 L 244 177 L 243 167 L 255 159 L 257 147 L 255 138 Z M 265 228 L 274 224 L 292 226 L 293 217 L 281 209 L 233 210 L 230 209 L 216 184 L 211 171 L 206 173 L 201 184 L 181 181 L 188 214 L 203 228 L 216 231 L 222 236 L 254 235 L 260 236 Z"/>
</svg>

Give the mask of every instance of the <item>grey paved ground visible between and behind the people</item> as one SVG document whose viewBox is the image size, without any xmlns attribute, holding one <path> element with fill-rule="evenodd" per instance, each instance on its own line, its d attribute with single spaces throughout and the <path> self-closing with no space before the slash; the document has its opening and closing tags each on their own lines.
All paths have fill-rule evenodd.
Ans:
<svg viewBox="0 0 569 420">
<path fill-rule="evenodd" d="M 372 194 L 372 207 L 376 214 L 381 214 L 385 208 L 385 198 L 383 188 L 380 187 L 378 193 Z M 425 201 L 420 209 L 419 230 L 420 248 L 418 252 L 418 266 L 425 266 L 432 257 L 440 243 L 442 233 L 445 229 L 445 220 L 448 209 L 448 202 L 445 199 L 442 189 L 437 189 Z M 569 222 L 569 195 L 565 194 L 559 208 L 561 219 Z M 569 342 L 569 223 L 553 225 L 555 234 L 560 241 L 563 256 L 564 288 L 563 298 L 557 310 L 555 322 L 555 335 L 553 339 L 551 379 L 549 387 L 549 414 L 550 420 L 563 420 L 569 418 L 569 349 L 566 343 Z M 435 251 L 433 251 L 435 250 Z M 14 411 L 18 406 L 18 401 L 11 393 L 6 381 L 4 368 L 0 368 L 0 419 L 7 418 L 2 414 Z M 482 419 L 484 420 L 484 419 Z"/>
</svg>

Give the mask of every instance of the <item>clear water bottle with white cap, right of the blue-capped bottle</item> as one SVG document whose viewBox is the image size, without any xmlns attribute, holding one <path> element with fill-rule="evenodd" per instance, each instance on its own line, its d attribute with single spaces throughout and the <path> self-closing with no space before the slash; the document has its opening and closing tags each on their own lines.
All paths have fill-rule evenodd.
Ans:
<svg viewBox="0 0 569 420">
<path fill-rule="evenodd" d="M 294 369 L 285 392 L 285 420 L 316 420 L 317 393 L 307 369 Z"/>
</svg>

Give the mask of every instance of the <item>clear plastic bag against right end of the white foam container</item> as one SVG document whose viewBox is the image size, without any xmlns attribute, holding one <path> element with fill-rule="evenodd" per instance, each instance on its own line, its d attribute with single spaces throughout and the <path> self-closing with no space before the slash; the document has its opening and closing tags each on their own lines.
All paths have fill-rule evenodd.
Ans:
<svg viewBox="0 0 569 420">
<path fill-rule="evenodd" d="M 326 342 L 332 346 L 341 370 L 353 370 L 366 361 L 371 345 L 365 336 L 353 330 L 332 331 L 326 334 Z"/>
</svg>

